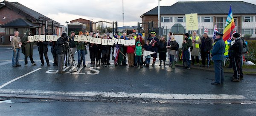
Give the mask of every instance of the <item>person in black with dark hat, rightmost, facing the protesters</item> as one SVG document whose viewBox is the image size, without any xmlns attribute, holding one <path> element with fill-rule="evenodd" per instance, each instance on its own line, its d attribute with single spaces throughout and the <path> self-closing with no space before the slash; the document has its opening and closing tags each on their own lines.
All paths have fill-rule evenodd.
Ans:
<svg viewBox="0 0 256 116">
<path fill-rule="evenodd" d="M 230 46 L 230 50 L 232 51 L 232 59 L 233 59 L 233 77 L 231 79 L 232 82 L 239 82 L 240 79 L 243 79 L 242 72 L 242 51 L 243 51 L 243 43 L 244 41 L 240 38 L 239 33 L 233 34 L 234 42 Z"/>
</svg>

